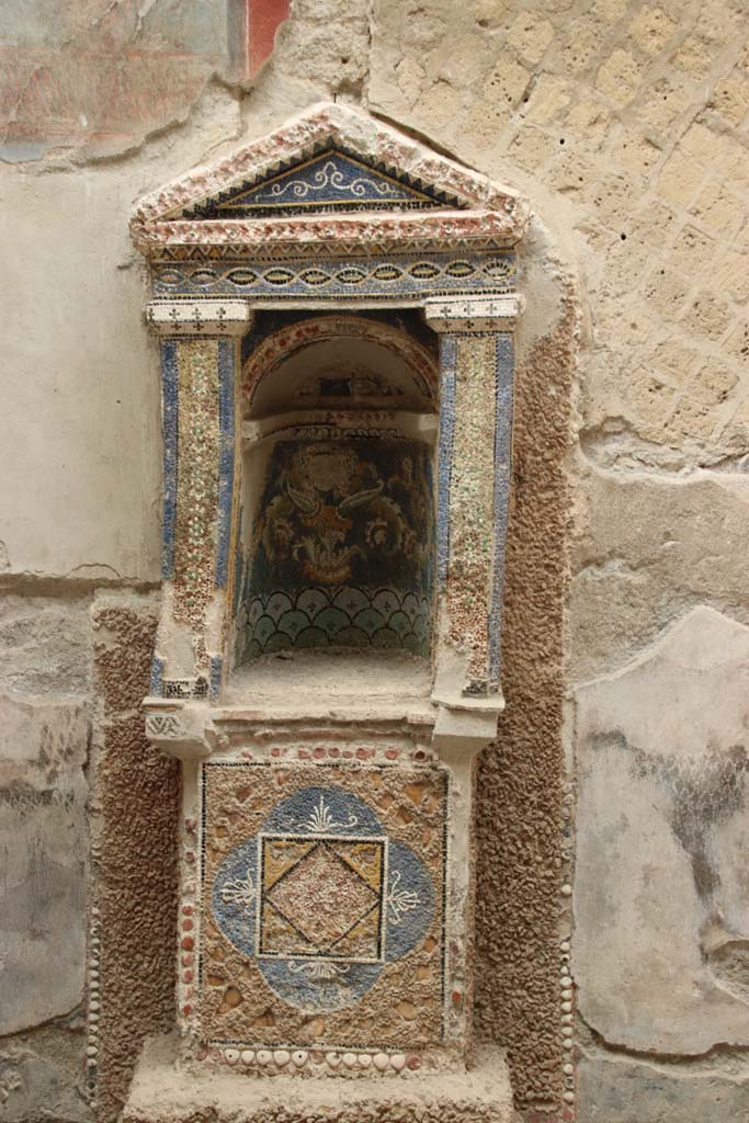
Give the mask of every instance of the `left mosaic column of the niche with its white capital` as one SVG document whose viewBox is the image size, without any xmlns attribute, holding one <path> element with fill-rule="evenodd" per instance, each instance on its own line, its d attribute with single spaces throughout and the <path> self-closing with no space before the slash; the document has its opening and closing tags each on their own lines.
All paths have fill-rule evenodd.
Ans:
<svg viewBox="0 0 749 1123">
<path fill-rule="evenodd" d="M 158 740 L 173 730 L 157 700 L 216 699 L 221 687 L 238 505 L 236 372 L 252 312 L 244 300 L 154 301 L 147 318 L 162 353 L 164 584 L 147 724 Z"/>
</svg>

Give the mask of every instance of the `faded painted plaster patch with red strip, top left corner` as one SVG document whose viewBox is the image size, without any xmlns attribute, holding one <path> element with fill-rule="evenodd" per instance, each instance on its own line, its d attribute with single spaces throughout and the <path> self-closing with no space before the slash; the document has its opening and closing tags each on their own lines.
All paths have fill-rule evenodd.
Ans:
<svg viewBox="0 0 749 1123">
<path fill-rule="evenodd" d="M 183 118 L 212 74 L 254 76 L 287 8 L 289 0 L 3 3 L 3 161 L 61 148 L 121 155 Z"/>
</svg>

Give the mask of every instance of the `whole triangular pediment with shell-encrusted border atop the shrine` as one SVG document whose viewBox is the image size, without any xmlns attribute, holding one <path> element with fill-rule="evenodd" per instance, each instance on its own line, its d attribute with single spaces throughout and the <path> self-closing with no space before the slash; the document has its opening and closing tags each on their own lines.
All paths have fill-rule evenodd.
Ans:
<svg viewBox="0 0 749 1123">
<path fill-rule="evenodd" d="M 367 113 L 322 104 L 143 199 L 147 257 L 275 257 L 514 245 L 524 203 Z"/>
</svg>

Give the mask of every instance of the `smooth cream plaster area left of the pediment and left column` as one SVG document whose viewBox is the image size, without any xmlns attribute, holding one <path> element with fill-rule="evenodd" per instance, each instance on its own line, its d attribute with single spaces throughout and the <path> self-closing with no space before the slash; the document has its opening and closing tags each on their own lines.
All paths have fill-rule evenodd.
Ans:
<svg viewBox="0 0 749 1123">
<path fill-rule="evenodd" d="M 237 117 L 236 100 L 211 91 L 176 145 L 46 175 L 0 165 L 12 247 L 0 275 L 6 573 L 159 579 L 158 347 L 128 219 L 146 191 L 228 141 Z"/>
</svg>

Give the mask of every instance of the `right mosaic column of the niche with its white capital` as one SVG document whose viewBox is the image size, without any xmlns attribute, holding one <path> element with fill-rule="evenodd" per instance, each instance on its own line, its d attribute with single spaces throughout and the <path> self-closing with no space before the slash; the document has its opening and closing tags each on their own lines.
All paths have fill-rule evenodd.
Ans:
<svg viewBox="0 0 749 1123">
<path fill-rule="evenodd" d="M 433 699 L 502 707 L 502 592 L 517 295 L 433 300 L 440 334 L 438 649 Z"/>
</svg>

